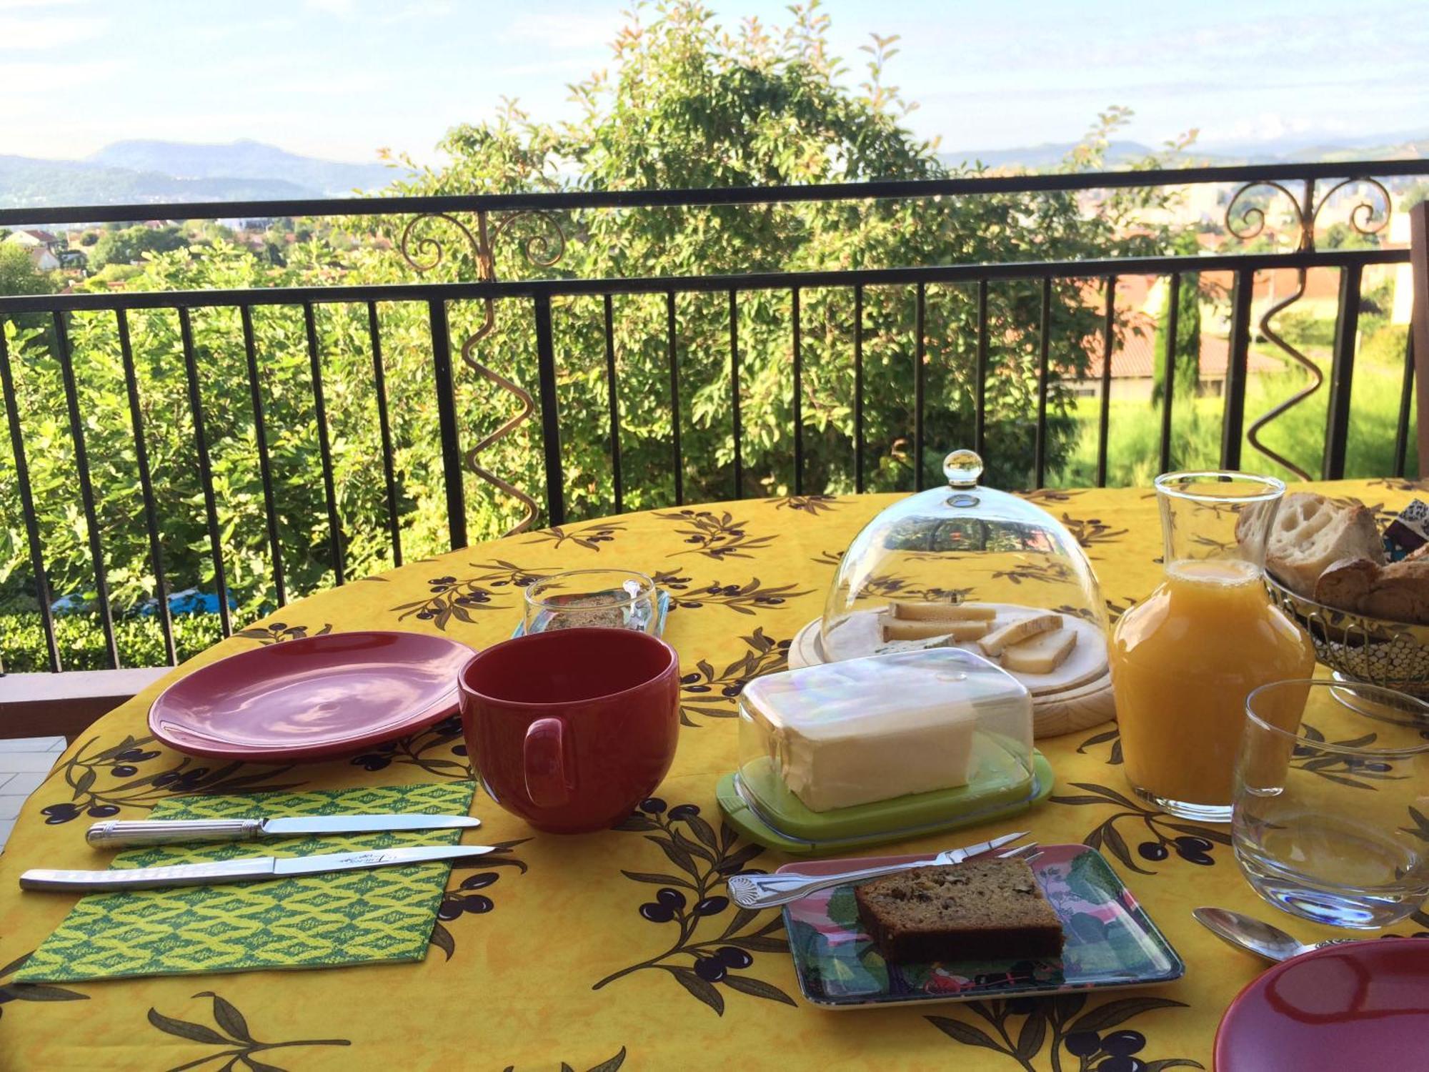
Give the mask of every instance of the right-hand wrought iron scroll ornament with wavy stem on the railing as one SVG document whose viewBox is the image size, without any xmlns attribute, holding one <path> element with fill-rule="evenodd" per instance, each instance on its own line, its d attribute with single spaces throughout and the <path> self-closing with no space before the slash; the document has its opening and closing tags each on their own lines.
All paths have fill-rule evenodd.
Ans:
<svg viewBox="0 0 1429 1072">
<path fill-rule="evenodd" d="M 1296 243 L 1295 243 L 1296 250 L 1302 253 L 1313 253 L 1315 220 L 1319 217 L 1320 210 L 1329 203 L 1330 197 L 1339 193 L 1339 190 L 1345 189 L 1346 186 L 1356 186 L 1360 183 L 1373 187 L 1373 192 L 1378 193 L 1378 196 L 1383 200 L 1383 207 L 1380 209 L 1380 206 L 1376 206 L 1373 202 L 1370 202 L 1369 194 L 1366 193 L 1363 194 L 1363 200 L 1360 200 L 1350 209 L 1348 222 L 1349 226 L 1359 234 L 1378 234 L 1389 224 L 1389 214 L 1393 210 L 1393 206 L 1389 199 L 1389 190 L 1386 190 L 1385 186 L 1378 179 L 1370 179 L 1368 176 L 1342 179 L 1340 182 L 1335 183 L 1329 190 L 1326 190 L 1319 197 L 1319 200 L 1315 199 L 1313 179 L 1305 180 L 1305 192 L 1302 197 L 1296 197 L 1289 189 L 1286 189 L 1280 183 L 1270 182 L 1268 179 L 1246 183 L 1245 186 L 1242 186 L 1235 192 L 1229 204 L 1226 204 L 1226 230 L 1243 242 L 1249 242 L 1250 239 L 1255 239 L 1259 234 L 1262 234 L 1266 226 L 1265 209 L 1262 209 L 1259 204 L 1252 203 L 1246 197 L 1246 194 L 1248 192 L 1260 187 L 1272 189 L 1283 194 L 1285 199 L 1290 203 L 1290 207 L 1295 210 L 1293 222 L 1296 229 Z M 1245 200 L 1245 206 L 1240 209 L 1240 213 L 1238 216 L 1236 206 L 1240 204 L 1242 200 Z M 1272 343 L 1280 347 L 1280 350 L 1288 353 L 1292 360 L 1295 360 L 1300 367 L 1303 367 L 1310 374 L 1310 382 L 1308 386 L 1298 390 L 1285 402 L 1273 406 L 1272 409 L 1266 410 L 1259 417 L 1256 417 L 1250 423 L 1250 427 L 1246 430 L 1246 439 L 1250 440 L 1250 446 L 1253 446 L 1262 455 L 1269 457 L 1272 462 L 1278 462 L 1279 465 L 1285 466 L 1288 470 L 1299 476 L 1302 480 L 1309 480 L 1310 475 L 1308 472 L 1305 472 L 1298 465 L 1290 462 L 1290 459 L 1276 453 L 1275 450 L 1272 450 L 1270 447 L 1268 447 L 1265 443 L 1260 442 L 1260 429 L 1263 429 L 1266 425 L 1269 425 L 1280 415 L 1299 406 L 1302 402 L 1315 394 L 1315 392 L 1318 392 L 1320 386 L 1325 383 L 1325 373 L 1320 370 L 1320 366 L 1312 362 L 1309 357 L 1306 357 L 1300 350 L 1290 346 L 1290 343 L 1288 343 L 1283 337 L 1280 337 L 1279 333 L 1276 333 L 1273 327 L 1270 327 L 1272 319 L 1275 319 L 1286 309 L 1289 309 L 1292 304 L 1305 297 L 1305 280 L 1306 280 L 1306 269 L 1298 269 L 1295 292 L 1280 299 L 1260 314 L 1260 334 L 1263 334 L 1266 339 L 1269 339 Z"/>
</svg>

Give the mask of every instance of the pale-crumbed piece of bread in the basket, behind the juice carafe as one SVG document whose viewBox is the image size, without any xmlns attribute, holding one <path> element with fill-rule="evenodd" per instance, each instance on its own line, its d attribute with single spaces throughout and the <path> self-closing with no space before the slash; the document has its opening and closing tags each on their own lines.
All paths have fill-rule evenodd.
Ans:
<svg viewBox="0 0 1429 1072">
<path fill-rule="evenodd" d="M 1236 522 L 1242 543 L 1253 537 L 1265 507 L 1252 507 Z M 1375 515 L 1362 503 L 1326 499 L 1313 492 L 1285 496 L 1266 540 L 1265 566 L 1292 592 L 1315 597 L 1325 570 L 1343 559 L 1385 565 L 1385 545 Z"/>
</svg>

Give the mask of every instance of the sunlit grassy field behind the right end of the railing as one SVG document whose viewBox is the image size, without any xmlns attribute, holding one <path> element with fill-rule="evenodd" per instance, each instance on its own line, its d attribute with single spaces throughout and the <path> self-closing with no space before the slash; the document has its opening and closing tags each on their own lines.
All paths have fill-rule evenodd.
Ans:
<svg viewBox="0 0 1429 1072">
<path fill-rule="evenodd" d="M 1310 354 L 1316 356 L 1316 354 Z M 1323 362 L 1328 367 L 1329 362 Z M 1350 390 L 1349 440 L 1345 447 L 1345 476 L 1389 476 L 1395 465 L 1395 429 L 1399 420 L 1400 362 L 1378 362 L 1362 356 Z M 1299 370 L 1252 376 L 1246 389 L 1245 425 L 1305 387 L 1309 377 Z M 1262 442 L 1319 479 L 1325 450 L 1325 420 L 1329 383 L 1310 399 L 1268 425 Z M 1076 453 L 1050 483 L 1090 486 L 1096 483 L 1099 399 L 1082 399 L 1076 416 L 1082 425 Z M 1172 467 L 1216 469 L 1220 465 L 1220 420 L 1225 402 L 1219 397 L 1185 399 L 1172 405 Z M 1410 413 L 1409 450 L 1405 475 L 1419 475 L 1415 459 L 1415 420 Z M 1113 400 L 1107 433 L 1106 482 L 1110 486 L 1149 485 L 1160 470 L 1160 406 L 1149 402 Z M 1242 440 L 1240 467 L 1288 480 L 1295 475 Z"/>
</svg>

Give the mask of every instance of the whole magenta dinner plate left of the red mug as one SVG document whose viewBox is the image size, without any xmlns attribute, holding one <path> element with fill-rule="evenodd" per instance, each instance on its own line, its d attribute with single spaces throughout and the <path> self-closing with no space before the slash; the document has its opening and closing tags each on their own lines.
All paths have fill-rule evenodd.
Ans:
<svg viewBox="0 0 1429 1072">
<path fill-rule="evenodd" d="M 422 633 L 329 633 L 209 663 L 149 709 L 156 738 L 196 756 L 333 759 L 414 733 L 457 708 L 473 655 Z"/>
</svg>

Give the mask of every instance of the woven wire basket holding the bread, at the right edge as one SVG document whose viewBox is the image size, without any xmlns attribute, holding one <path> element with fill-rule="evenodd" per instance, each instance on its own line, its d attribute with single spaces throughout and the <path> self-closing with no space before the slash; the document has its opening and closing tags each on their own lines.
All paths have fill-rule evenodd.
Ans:
<svg viewBox="0 0 1429 1072">
<path fill-rule="evenodd" d="M 1429 626 L 1366 617 L 1296 595 L 1268 572 L 1270 599 L 1310 635 L 1316 657 L 1346 680 L 1429 698 Z"/>
</svg>

